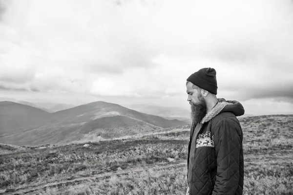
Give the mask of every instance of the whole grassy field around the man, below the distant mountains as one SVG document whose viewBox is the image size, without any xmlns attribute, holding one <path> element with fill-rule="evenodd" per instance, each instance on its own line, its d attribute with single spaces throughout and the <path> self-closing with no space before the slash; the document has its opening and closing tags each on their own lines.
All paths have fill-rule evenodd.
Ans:
<svg viewBox="0 0 293 195">
<path fill-rule="evenodd" d="M 293 195 L 293 115 L 239 119 L 245 195 Z M 185 195 L 189 127 L 97 143 L 0 145 L 0 194 Z"/>
</svg>

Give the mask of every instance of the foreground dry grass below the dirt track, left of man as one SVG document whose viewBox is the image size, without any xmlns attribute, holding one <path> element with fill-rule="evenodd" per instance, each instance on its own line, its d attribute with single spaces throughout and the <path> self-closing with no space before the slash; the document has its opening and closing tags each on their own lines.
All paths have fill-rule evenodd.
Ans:
<svg viewBox="0 0 293 195">
<path fill-rule="evenodd" d="M 97 195 L 182 195 L 187 185 L 184 176 L 185 167 L 169 169 L 151 168 L 136 173 L 111 175 L 98 181 L 84 182 L 66 186 L 60 194 L 97 194 Z M 43 190 L 43 194 L 54 195 L 58 188 Z M 58 194 L 58 193 L 57 193 Z"/>
</svg>

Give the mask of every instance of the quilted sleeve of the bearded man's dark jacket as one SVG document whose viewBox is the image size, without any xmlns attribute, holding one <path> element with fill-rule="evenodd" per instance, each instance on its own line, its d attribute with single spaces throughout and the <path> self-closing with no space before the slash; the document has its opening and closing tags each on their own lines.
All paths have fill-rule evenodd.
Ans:
<svg viewBox="0 0 293 195">
<path fill-rule="evenodd" d="M 231 119 L 221 119 L 215 126 L 214 144 L 217 173 L 212 195 L 234 195 L 239 181 L 240 127 Z"/>
</svg>

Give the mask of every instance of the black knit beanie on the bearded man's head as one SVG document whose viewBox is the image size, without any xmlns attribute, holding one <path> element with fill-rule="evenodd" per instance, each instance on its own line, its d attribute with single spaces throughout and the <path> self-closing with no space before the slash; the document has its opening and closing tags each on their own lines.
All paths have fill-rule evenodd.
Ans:
<svg viewBox="0 0 293 195">
<path fill-rule="evenodd" d="M 216 70 L 213 68 L 202 68 L 197 72 L 191 74 L 187 81 L 190 81 L 194 85 L 206 89 L 207 91 L 217 94 L 217 79 Z"/>
</svg>

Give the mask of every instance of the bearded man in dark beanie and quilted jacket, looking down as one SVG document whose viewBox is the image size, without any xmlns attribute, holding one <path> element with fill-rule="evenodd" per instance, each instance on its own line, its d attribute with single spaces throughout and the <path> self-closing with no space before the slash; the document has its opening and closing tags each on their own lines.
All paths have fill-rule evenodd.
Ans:
<svg viewBox="0 0 293 195">
<path fill-rule="evenodd" d="M 243 106 L 216 97 L 214 68 L 191 74 L 186 87 L 192 117 L 187 195 L 242 195 L 243 133 L 236 116 Z"/>
</svg>

